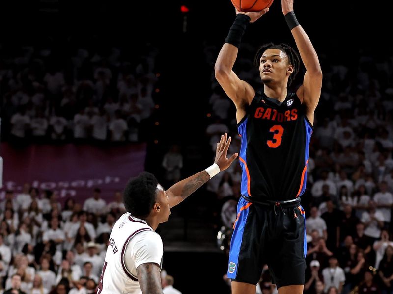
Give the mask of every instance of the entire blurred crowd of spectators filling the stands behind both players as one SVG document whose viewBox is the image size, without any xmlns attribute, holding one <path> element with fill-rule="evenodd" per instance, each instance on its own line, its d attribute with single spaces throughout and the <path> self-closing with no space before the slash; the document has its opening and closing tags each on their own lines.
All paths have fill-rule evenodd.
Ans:
<svg viewBox="0 0 393 294">
<path fill-rule="evenodd" d="M 256 50 L 242 46 L 235 72 L 258 88 Z M 205 46 L 204 52 L 212 69 L 206 99 L 212 155 L 225 132 L 233 139 L 229 153 L 240 147 L 233 103 L 214 78 L 218 50 Z M 59 64 L 51 50 L 26 47 L 1 61 L 2 135 L 13 142 L 138 142 L 155 107 L 157 50 L 147 49 L 137 62 L 127 61 L 117 48 L 107 54 L 80 48 L 65 56 Z M 320 56 L 324 83 L 302 196 L 307 294 L 393 293 L 393 59 L 366 52 L 352 58 L 341 64 Z M 168 184 L 181 179 L 180 147 L 170 147 L 161 165 Z M 226 236 L 224 251 L 241 178 L 240 165 L 233 164 L 207 183 L 206 193 L 216 199 L 220 236 Z M 62 206 L 55 193 L 29 184 L 21 193 L 7 191 L 0 202 L 1 287 L 33 294 L 94 293 L 109 234 L 124 211 L 121 193 L 113 198 L 105 203 L 96 189 L 83 205 L 70 198 Z M 257 293 L 275 291 L 265 267 Z"/>
</svg>

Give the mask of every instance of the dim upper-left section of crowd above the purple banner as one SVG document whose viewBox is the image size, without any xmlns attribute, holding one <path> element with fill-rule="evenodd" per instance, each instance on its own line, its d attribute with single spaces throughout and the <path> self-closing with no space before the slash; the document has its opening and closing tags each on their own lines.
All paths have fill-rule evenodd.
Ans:
<svg viewBox="0 0 393 294">
<path fill-rule="evenodd" d="M 155 109 L 158 50 L 0 46 L 2 138 L 139 142 Z"/>
</svg>

